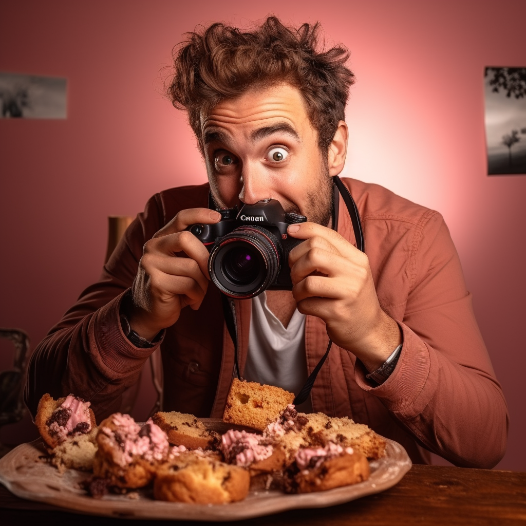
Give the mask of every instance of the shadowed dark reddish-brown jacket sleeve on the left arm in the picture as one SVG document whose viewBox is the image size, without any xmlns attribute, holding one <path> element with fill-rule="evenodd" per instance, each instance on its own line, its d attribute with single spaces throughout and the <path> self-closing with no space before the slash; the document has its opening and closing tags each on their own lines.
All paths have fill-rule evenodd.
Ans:
<svg viewBox="0 0 526 526">
<path fill-rule="evenodd" d="M 89 400 L 97 420 L 119 409 L 122 393 L 159 345 L 139 349 L 128 341 L 120 327 L 120 301 L 133 284 L 144 243 L 163 225 L 163 206 L 155 195 L 126 230 L 99 281 L 39 343 L 29 359 L 24 392 L 33 416 L 44 393 Z"/>
</svg>

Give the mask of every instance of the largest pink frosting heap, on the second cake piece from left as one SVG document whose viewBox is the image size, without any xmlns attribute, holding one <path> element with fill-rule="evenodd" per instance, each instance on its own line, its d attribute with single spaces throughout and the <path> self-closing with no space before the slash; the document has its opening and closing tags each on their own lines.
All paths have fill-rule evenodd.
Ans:
<svg viewBox="0 0 526 526">
<path fill-rule="evenodd" d="M 151 418 L 141 428 L 129 414 L 115 413 L 112 423 L 115 431 L 108 427 L 103 427 L 101 431 L 115 443 L 112 457 L 119 466 L 127 466 L 136 456 L 149 462 L 164 460 L 168 456 L 166 433 Z"/>
</svg>

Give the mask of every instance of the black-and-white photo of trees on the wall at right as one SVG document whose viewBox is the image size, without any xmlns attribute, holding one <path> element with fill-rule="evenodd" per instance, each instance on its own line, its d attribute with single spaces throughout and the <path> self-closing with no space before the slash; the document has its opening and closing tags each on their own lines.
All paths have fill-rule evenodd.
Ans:
<svg viewBox="0 0 526 526">
<path fill-rule="evenodd" d="M 484 72 L 488 175 L 526 175 L 526 67 Z"/>
</svg>

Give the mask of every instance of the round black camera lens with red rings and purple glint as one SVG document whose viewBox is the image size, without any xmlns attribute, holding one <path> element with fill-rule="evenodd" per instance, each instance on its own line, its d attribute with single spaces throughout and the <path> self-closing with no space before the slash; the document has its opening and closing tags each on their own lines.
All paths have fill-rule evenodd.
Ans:
<svg viewBox="0 0 526 526">
<path fill-rule="evenodd" d="M 281 245 L 272 232 L 259 226 L 243 226 L 216 242 L 208 271 L 227 296 L 252 298 L 274 283 L 281 258 Z"/>
</svg>

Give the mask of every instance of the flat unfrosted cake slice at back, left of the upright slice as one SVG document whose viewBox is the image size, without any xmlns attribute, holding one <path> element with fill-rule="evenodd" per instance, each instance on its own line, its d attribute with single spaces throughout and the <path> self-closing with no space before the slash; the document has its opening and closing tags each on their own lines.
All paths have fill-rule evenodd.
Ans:
<svg viewBox="0 0 526 526">
<path fill-rule="evenodd" d="M 167 434 L 169 442 L 175 446 L 207 449 L 219 440 L 219 434 L 208 430 L 193 414 L 159 411 L 151 419 Z"/>
</svg>

